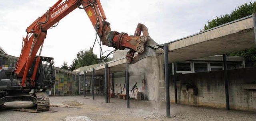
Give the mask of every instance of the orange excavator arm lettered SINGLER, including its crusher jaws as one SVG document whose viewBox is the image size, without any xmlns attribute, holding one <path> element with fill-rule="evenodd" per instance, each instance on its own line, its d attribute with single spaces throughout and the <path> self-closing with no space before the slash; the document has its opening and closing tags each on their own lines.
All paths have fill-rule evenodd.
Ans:
<svg viewBox="0 0 256 121">
<path fill-rule="evenodd" d="M 82 7 L 80 7 L 81 5 Z M 154 47 L 157 45 L 157 43 L 150 38 L 148 35 L 148 29 L 143 24 L 138 24 L 134 36 L 129 36 L 127 33 L 111 31 L 110 23 L 106 21 L 106 16 L 104 14 L 104 10 L 102 9 L 100 0 L 58 0 L 56 4 L 50 7 L 48 11 L 36 19 L 26 29 L 27 35 L 23 38 L 22 51 L 14 71 L 18 77 L 22 77 L 22 87 L 26 87 L 26 75 L 32 64 L 31 59 L 36 57 L 36 53 L 38 53 L 38 50 L 40 49 L 39 56 L 36 59 L 32 78 L 30 78 L 31 86 L 35 85 L 34 80 L 37 71 L 36 68 L 38 68 L 47 30 L 76 8 L 85 10 L 103 45 L 120 50 L 126 48 L 130 49 L 126 55 L 128 64 L 135 63 L 144 57 L 154 55 L 152 52 L 150 52 L 152 54 L 143 53 L 144 45 L 145 43 L 148 43 L 148 41 L 150 43 L 150 45 L 147 45 L 148 47 Z M 140 34 L 142 31 L 143 35 L 141 36 Z M 145 47 L 145 49 L 148 50 L 149 48 Z M 136 52 L 138 55 L 133 58 L 134 53 Z"/>
</svg>

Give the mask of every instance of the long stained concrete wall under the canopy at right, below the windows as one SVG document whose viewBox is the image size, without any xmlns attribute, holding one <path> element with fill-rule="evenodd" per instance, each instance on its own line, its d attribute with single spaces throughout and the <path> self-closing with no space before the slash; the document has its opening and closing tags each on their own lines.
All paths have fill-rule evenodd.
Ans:
<svg viewBox="0 0 256 121">
<path fill-rule="evenodd" d="M 255 72 L 256 68 L 228 70 L 230 109 L 256 111 Z M 171 102 L 175 99 L 173 79 L 170 76 Z M 177 80 L 178 103 L 226 107 L 223 71 L 180 74 Z"/>
</svg>

